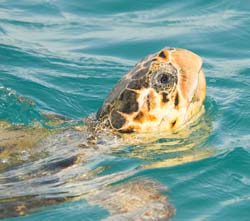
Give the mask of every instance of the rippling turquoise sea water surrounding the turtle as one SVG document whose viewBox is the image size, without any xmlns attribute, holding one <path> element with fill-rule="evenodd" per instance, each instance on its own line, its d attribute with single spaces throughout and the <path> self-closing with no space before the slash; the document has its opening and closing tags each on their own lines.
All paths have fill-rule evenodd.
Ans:
<svg viewBox="0 0 250 221">
<path fill-rule="evenodd" d="M 176 208 L 175 221 L 250 220 L 249 39 L 247 0 L 1 0 L 0 118 L 13 124 L 44 124 L 40 113 L 53 112 L 81 119 L 98 110 L 117 80 L 141 58 L 169 46 L 192 50 L 204 62 L 204 121 L 210 130 L 205 139 L 199 131 L 186 139 L 212 154 L 129 175 L 142 163 L 163 157 L 157 151 L 144 161 L 128 157 L 124 152 L 143 152 L 143 146 L 132 146 L 99 159 L 96 165 L 106 168 L 99 176 L 128 171 L 128 179 L 147 177 L 163 183 L 168 187 L 164 194 Z M 23 173 L 22 167 L 9 171 L 9 176 L 18 172 Z M 28 184 L 13 179 L 2 183 L 0 198 L 15 197 L 20 188 L 31 188 Z M 44 188 L 52 195 L 62 190 Z M 81 184 L 67 191 L 73 195 L 86 190 Z M 10 220 L 105 217 L 107 211 L 80 199 Z"/>
</svg>

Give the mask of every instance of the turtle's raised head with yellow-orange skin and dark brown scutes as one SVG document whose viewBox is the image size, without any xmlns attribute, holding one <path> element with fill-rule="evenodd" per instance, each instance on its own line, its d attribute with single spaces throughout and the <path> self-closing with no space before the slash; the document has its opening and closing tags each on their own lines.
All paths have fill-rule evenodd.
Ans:
<svg viewBox="0 0 250 221">
<path fill-rule="evenodd" d="M 116 84 L 97 120 L 123 133 L 172 131 L 200 112 L 205 94 L 201 58 L 185 49 L 165 48 Z"/>
</svg>

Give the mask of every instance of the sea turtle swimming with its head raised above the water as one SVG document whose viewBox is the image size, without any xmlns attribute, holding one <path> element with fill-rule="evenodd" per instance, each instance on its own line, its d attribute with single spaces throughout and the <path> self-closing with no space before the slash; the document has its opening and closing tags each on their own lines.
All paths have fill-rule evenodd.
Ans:
<svg viewBox="0 0 250 221">
<path fill-rule="evenodd" d="M 107 176 L 109 182 L 105 185 L 105 176 L 96 176 L 101 170 L 99 167 L 68 179 L 65 177 L 66 174 L 70 176 L 69 173 L 62 176 L 58 173 L 71 171 L 69 168 L 76 164 L 91 163 L 96 156 L 112 152 L 121 144 L 147 143 L 156 137 L 183 131 L 202 113 L 205 94 L 201 58 L 185 49 L 165 48 L 136 64 L 116 84 L 97 114 L 84 119 L 83 125 L 50 130 L 37 125 L 13 126 L 2 122 L 0 218 L 25 215 L 33 208 L 77 197 L 106 208 L 112 214 L 107 220 L 161 220 L 171 217 L 174 209 L 161 194 L 157 182 L 142 179 L 110 185 L 134 174 L 135 170 Z M 67 121 L 60 116 L 44 116 L 53 125 Z M 72 155 L 65 158 L 64 151 Z M 26 157 L 23 157 L 23 152 Z M 51 153 L 56 155 L 52 154 L 51 162 L 38 163 L 35 169 L 30 164 L 51 156 Z M 182 160 L 190 161 L 188 157 Z M 48 197 L 39 192 L 42 190 L 37 186 L 53 184 L 52 178 L 61 180 L 65 183 L 63 187 L 67 185 L 68 189 L 73 185 L 72 180 L 84 181 L 86 191 L 81 189 L 78 192 L 74 188 L 70 189 L 69 195 Z M 23 181 L 22 186 L 25 186 L 26 180 L 29 180 L 29 185 L 32 182 L 39 184 L 36 193 L 26 188 L 28 192 L 23 190 L 15 197 L 4 195 L 8 190 L 18 190 L 13 182 Z"/>
</svg>

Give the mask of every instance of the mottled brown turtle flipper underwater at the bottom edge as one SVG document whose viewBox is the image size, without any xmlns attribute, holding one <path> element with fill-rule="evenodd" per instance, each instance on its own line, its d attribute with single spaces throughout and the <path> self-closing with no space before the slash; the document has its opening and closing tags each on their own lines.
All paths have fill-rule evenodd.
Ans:
<svg viewBox="0 0 250 221">
<path fill-rule="evenodd" d="M 139 179 L 98 191 L 88 201 L 109 211 L 111 215 L 105 221 L 167 220 L 175 209 L 162 191 L 166 188 L 160 183 Z"/>
</svg>

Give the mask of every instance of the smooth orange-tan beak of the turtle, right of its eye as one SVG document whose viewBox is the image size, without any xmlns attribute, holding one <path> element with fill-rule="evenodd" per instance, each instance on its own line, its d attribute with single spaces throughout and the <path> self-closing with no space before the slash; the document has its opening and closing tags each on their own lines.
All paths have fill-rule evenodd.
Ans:
<svg viewBox="0 0 250 221">
<path fill-rule="evenodd" d="M 178 87 L 184 100 L 190 103 L 194 96 L 204 100 L 206 84 L 200 56 L 185 49 L 176 49 L 172 53 L 172 62 L 179 68 Z"/>
</svg>

